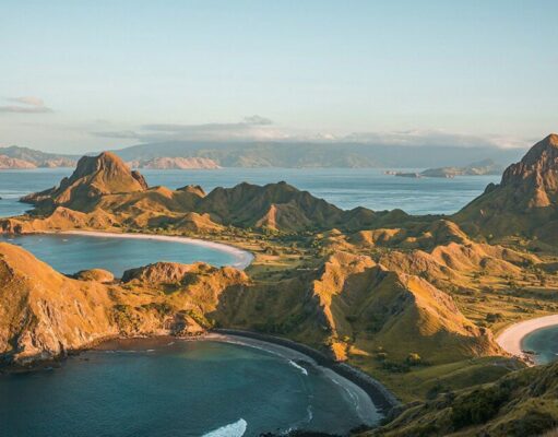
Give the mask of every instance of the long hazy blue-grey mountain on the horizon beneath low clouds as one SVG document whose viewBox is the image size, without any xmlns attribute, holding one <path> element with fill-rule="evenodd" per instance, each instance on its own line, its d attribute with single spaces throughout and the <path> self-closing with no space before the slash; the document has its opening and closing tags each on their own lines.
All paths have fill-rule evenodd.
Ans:
<svg viewBox="0 0 558 437">
<path fill-rule="evenodd" d="M 206 157 L 222 167 L 443 167 L 463 166 L 479 156 L 508 165 L 521 149 L 404 146 L 317 142 L 164 142 L 115 150 L 124 161 L 155 157 Z"/>
</svg>

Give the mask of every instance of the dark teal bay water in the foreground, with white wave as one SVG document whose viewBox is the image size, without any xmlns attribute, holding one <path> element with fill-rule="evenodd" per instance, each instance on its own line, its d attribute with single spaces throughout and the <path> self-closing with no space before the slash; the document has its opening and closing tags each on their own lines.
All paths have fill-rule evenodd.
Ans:
<svg viewBox="0 0 558 437">
<path fill-rule="evenodd" d="M 318 368 L 217 343 L 134 340 L 61 368 L 0 376 L 2 436 L 258 436 L 346 433 L 352 398 Z M 227 428 L 224 428 L 229 425 Z M 245 429 L 246 428 L 246 429 Z"/>
</svg>

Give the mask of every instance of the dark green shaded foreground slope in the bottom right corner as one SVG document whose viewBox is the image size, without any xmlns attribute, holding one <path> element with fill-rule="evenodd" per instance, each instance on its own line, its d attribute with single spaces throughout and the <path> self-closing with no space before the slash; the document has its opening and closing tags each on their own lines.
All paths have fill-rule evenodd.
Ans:
<svg viewBox="0 0 558 437">
<path fill-rule="evenodd" d="M 542 436 L 558 425 L 558 364 L 511 373 L 494 383 L 408 405 L 360 436 Z"/>
</svg>

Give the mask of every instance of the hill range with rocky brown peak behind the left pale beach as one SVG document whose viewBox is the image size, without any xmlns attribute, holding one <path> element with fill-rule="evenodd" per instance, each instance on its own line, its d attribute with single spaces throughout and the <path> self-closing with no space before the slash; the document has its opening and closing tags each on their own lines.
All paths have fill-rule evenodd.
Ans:
<svg viewBox="0 0 558 437">
<path fill-rule="evenodd" d="M 131 172 L 110 152 L 82 157 L 74 173 L 58 187 L 26 196 L 22 201 L 37 206 L 35 215 L 51 217 L 57 208 L 63 206 L 90 214 L 86 221 L 91 223 L 135 227 L 162 224 L 170 228 L 195 227 L 194 221 L 205 228 L 233 225 L 299 232 L 335 226 L 358 228 L 408 218 L 402 211 L 373 212 L 364 208 L 343 211 L 286 182 L 263 187 L 244 182 L 233 188 L 215 188 L 206 196 L 199 187 L 149 188 L 140 173 Z M 33 226 L 40 225 L 36 220 L 34 223 Z M 21 228 L 33 231 L 29 226 L 27 222 Z M 63 228 L 63 224 L 60 226 Z"/>
</svg>

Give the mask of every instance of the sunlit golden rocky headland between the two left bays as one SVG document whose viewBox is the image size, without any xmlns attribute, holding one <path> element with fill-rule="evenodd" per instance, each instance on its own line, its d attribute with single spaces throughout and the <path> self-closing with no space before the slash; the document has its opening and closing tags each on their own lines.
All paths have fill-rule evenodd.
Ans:
<svg viewBox="0 0 558 437">
<path fill-rule="evenodd" d="M 117 335 L 197 334 L 218 296 L 247 282 L 203 263 L 147 265 L 123 282 L 99 270 L 71 279 L 0 243 L 0 359 L 26 365 Z"/>
</svg>

